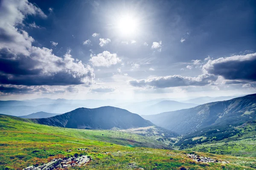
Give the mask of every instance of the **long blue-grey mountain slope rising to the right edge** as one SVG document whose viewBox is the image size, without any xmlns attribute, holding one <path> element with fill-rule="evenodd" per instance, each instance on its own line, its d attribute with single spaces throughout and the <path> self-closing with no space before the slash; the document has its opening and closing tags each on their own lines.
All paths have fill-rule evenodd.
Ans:
<svg viewBox="0 0 256 170">
<path fill-rule="evenodd" d="M 256 119 L 256 94 L 195 108 L 145 115 L 143 118 L 179 134 L 191 133 L 210 125 L 241 125 Z"/>
</svg>

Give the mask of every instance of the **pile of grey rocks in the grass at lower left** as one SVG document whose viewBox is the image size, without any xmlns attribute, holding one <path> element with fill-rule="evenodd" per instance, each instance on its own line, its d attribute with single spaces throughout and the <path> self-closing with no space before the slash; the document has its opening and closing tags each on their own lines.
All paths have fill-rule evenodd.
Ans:
<svg viewBox="0 0 256 170">
<path fill-rule="evenodd" d="M 48 162 L 47 164 L 43 164 L 38 167 L 29 166 L 24 168 L 23 170 L 55 170 L 56 168 L 68 168 L 68 167 L 75 167 L 75 166 L 83 166 L 87 162 L 90 161 L 90 157 L 83 155 L 78 157 L 71 157 L 66 159 L 53 159 L 52 161 Z"/>
</svg>

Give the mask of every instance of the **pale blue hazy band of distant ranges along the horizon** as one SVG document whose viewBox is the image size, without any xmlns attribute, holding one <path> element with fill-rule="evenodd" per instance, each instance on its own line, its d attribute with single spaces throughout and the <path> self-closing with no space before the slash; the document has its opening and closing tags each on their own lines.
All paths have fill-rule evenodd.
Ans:
<svg viewBox="0 0 256 170">
<path fill-rule="evenodd" d="M 209 98 L 209 97 L 206 97 Z M 221 97 L 222 98 L 222 97 Z M 229 96 L 228 98 L 232 98 Z M 198 99 L 194 102 L 198 103 Z M 210 98 L 215 99 L 215 98 Z M 217 99 L 217 98 L 216 98 Z M 200 98 L 201 100 L 201 98 Z M 186 102 L 186 103 L 185 103 Z M 13 115 L 13 116 L 25 116 L 36 112 L 58 113 L 63 114 L 69 111 L 73 111 L 76 108 L 99 108 L 102 106 L 113 106 L 126 109 L 132 113 L 140 115 L 157 114 L 166 111 L 175 111 L 185 108 L 192 108 L 198 104 L 189 101 L 176 102 L 174 99 L 154 99 L 140 102 L 122 101 L 122 100 L 77 100 L 77 99 L 49 99 L 38 98 L 31 100 L 9 100 L 0 101 L 0 113 Z M 200 102 L 199 102 L 200 103 Z"/>
</svg>

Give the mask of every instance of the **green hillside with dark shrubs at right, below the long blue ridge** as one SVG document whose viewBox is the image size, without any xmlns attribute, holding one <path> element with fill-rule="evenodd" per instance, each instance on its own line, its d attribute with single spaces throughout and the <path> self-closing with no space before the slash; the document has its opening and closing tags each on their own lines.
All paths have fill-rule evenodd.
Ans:
<svg viewBox="0 0 256 170">
<path fill-rule="evenodd" d="M 209 130 L 210 133 L 193 133 L 185 137 L 182 142 L 186 150 L 196 150 L 233 156 L 256 157 L 256 121 L 248 121 L 238 127 L 230 127 L 226 131 Z M 220 140 L 216 140 L 216 139 Z"/>
</svg>

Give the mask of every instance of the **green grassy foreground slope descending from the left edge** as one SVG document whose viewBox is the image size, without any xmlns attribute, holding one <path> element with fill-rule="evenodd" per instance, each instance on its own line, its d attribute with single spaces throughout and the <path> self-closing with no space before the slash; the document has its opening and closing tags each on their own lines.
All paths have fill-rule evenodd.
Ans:
<svg viewBox="0 0 256 170">
<path fill-rule="evenodd" d="M 230 163 L 198 163 L 187 156 L 189 151 L 148 148 L 152 143 L 160 143 L 152 142 L 147 136 L 110 130 L 50 127 L 3 115 L 0 115 L 0 136 L 0 170 L 21 170 L 29 165 L 47 163 L 53 158 L 79 154 L 90 156 L 92 161 L 81 167 L 90 170 L 253 170 L 255 164 L 255 158 L 211 153 L 197 154 Z M 145 143 L 148 147 L 133 147 Z"/>
</svg>

